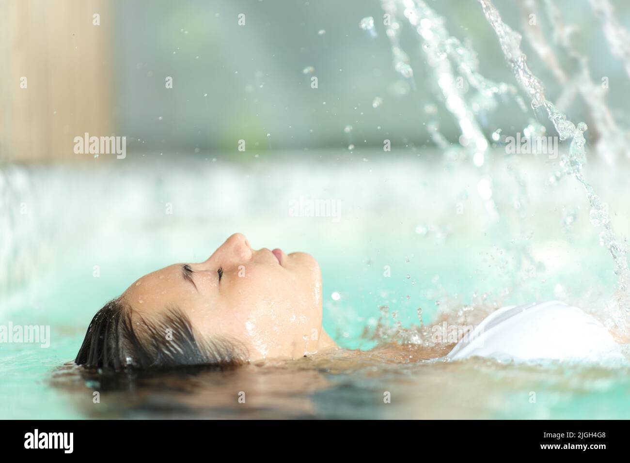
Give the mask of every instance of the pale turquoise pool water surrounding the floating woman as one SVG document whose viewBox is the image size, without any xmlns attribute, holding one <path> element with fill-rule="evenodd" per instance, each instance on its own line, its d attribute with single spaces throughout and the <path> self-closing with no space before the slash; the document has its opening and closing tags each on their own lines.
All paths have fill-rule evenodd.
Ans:
<svg viewBox="0 0 630 463">
<path fill-rule="evenodd" d="M 630 416 L 627 367 L 391 364 L 340 355 L 166 383 L 139 378 L 125 392 L 101 385 L 100 404 L 93 403 L 93 383 L 59 370 L 106 300 L 151 270 L 205 260 L 236 231 L 255 248 L 318 259 L 324 327 L 346 348 L 374 346 L 377 326 L 390 339 L 404 335 L 418 325 L 419 307 L 430 323 L 438 311 L 462 306 L 563 299 L 605 321 L 600 307 L 616 277 L 574 181 L 549 185 L 554 165 L 534 157 L 497 156 L 491 172 L 409 154 L 213 161 L 146 153 L 125 162 L 5 169 L 13 215 L 10 227 L 3 225 L 3 256 L 12 264 L 0 275 L 0 324 L 50 326 L 50 346 L 0 344 L 0 418 Z M 527 203 L 511 169 L 522 174 Z M 624 172 L 589 169 L 617 231 L 627 236 Z M 490 174 L 496 217 L 479 193 Z M 292 215 L 289 204 L 301 197 L 336 201 L 339 214 Z M 24 203 L 28 212 L 15 212 Z M 251 391 L 247 406 L 234 403 L 239 388 Z"/>
</svg>

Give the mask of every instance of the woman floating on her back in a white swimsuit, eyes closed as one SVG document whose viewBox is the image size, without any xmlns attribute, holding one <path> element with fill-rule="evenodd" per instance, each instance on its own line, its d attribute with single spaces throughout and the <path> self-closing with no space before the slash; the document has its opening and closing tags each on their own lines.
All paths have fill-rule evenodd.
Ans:
<svg viewBox="0 0 630 463">
<path fill-rule="evenodd" d="M 149 273 L 108 302 L 89 324 L 75 362 L 156 369 L 325 354 L 338 347 L 321 322 L 317 261 L 305 253 L 256 251 L 237 233 L 208 260 Z M 451 347 L 447 358 L 454 360 L 622 358 L 601 323 L 561 302 L 499 309 Z"/>
</svg>

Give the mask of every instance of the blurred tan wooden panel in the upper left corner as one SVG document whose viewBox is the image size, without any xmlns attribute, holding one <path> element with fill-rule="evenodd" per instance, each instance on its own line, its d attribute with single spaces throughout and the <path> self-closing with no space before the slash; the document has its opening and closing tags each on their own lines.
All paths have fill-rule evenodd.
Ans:
<svg viewBox="0 0 630 463">
<path fill-rule="evenodd" d="M 112 30 L 103 0 L 0 0 L 3 159 L 90 159 L 74 137 L 112 134 Z"/>
</svg>

